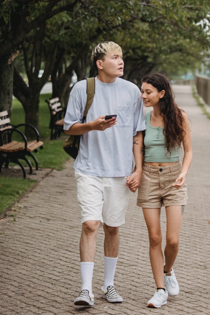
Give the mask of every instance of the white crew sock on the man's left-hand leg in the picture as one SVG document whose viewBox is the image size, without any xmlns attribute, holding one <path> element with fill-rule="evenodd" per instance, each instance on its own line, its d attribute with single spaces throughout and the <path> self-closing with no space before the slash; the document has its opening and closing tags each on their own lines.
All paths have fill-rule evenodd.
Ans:
<svg viewBox="0 0 210 315">
<path fill-rule="evenodd" d="M 89 295 L 92 294 L 92 278 L 93 278 L 94 262 L 82 261 L 80 263 L 80 270 L 82 276 L 82 288 L 81 291 L 87 289 Z"/>
</svg>

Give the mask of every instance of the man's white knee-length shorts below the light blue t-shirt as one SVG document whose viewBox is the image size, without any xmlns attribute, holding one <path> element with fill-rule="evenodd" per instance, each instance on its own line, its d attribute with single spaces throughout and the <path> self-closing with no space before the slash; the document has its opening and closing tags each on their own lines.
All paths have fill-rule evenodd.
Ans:
<svg viewBox="0 0 210 315">
<path fill-rule="evenodd" d="M 82 223 L 88 220 L 101 221 L 101 226 L 125 223 L 129 197 L 126 176 L 98 177 L 75 171 L 75 178 Z"/>
</svg>

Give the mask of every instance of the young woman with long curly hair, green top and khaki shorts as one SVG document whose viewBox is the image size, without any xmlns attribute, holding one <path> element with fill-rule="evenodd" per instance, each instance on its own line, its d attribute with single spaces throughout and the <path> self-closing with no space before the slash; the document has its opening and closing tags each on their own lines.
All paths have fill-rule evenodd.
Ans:
<svg viewBox="0 0 210 315">
<path fill-rule="evenodd" d="M 152 73 L 142 80 L 141 95 L 146 112 L 145 156 L 137 205 L 143 213 L 149 233 L 150 262 L 157 290 L 149 307 L 161 307 L 167 296 L 179 294 L 173 264 L 179 249 L 179 233 L 187 204 L 185 177 L 192 160 L 190 126 L 187 115 L 174 101 L 168 79 Z M 179 162 L 181 144 L 183 163 Z M 166 208 L 167 231 L 164 257 L 160 225 L 161 207 Z M 164 285 L 166 289 L 164 288 Z"/>
</svg>

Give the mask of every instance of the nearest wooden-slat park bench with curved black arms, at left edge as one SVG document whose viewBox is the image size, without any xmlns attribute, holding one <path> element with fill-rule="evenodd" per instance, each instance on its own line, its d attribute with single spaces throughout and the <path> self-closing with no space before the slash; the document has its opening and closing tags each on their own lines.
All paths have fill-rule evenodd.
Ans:
<svg viewBox="0 0 210 315">
<path fill-rule="evenodd" d="M 3 164 L 5 167 L 9 167 L 9 163 L 18 164 L 22 171 L 23 177 L 26 178 L 26 169 L 20 160 L 26 161 L 29 166 L 30 174 L 33 174 L 32 165 L 27 156 L 31 157 L 38 169 L 38 162 L 32 152 L 37 152 L 38 148 L 43 149 L 43 142 L 39 140 L 39 133 L 37 129 L 30 125 L 21 123 L 19 125 L 12 125 L 7 111 L 0 112 L 0 173 Z M 28 126 L 34 131 L 36 140 L 27 141 L 26 136 L 19 130 L 21 126 Z M 20 141 L 13 140 L 13 135 L 19 135 Z M 17 137 L 17 136 L 16 136 Z"/>
</svg>

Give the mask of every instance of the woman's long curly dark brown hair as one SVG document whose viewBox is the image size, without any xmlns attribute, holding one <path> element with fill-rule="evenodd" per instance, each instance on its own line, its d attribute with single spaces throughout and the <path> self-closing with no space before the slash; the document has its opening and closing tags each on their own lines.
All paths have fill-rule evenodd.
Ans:
<svg viewBox="0 0 210 315">
<path fill-rule="evenodd" d="M 149 83 L 154 86 L 158 92 L 165 91 L 160 99 L 160 115 L 163 118 L 163 135 L 165 137 L 167 151 L 171 154 L 171 149 L 175 146 L 180 148 L 186 132 L 183 129 L 184 117 L 183 110 L 175 103 L 175 96 L 171 83 L 167 77 L 161 73 L 151 73 L 143 77 L 142 83 Z"/>
</svg>

